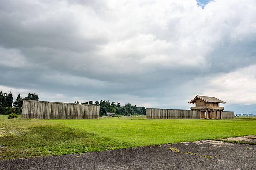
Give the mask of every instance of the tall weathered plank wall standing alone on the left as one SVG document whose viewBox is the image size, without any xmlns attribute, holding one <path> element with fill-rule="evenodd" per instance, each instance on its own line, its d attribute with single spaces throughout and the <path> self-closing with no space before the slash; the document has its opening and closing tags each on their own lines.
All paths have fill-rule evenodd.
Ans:
<svg viewBox="0 0 256 170">
<path fill-rule="evenodd" d="M 100 106 L 23 100 L 21 118 L 99 119 Z"/>
</svg>

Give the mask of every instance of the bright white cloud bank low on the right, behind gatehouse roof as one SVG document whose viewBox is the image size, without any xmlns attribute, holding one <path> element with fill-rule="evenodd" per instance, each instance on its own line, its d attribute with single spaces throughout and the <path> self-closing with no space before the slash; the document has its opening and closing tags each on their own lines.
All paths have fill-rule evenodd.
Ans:
<svg viewBox="0 0 256 170">
<path fill-rule="evenodd" d="M 256 65 L 244 67 L 222 75 L 196 78 L 185 87 L 196 88 L 195 95 L 215 96 L 226 104 L 255 104 L 256 99 Z M 191 99 L 193 97 L 191 96 Z"/>
</svg>

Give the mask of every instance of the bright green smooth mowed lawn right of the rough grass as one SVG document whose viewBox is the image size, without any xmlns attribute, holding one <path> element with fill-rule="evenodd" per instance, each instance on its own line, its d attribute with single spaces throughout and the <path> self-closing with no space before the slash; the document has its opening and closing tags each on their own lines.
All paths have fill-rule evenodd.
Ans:
<svg viewBox="0 0 256 170">
<path fill-rule="evenodd" d="M 144 119 L 48 120 L 130 143 L 132 147 L 256 134 L 256 120 Z"/>
</svg>

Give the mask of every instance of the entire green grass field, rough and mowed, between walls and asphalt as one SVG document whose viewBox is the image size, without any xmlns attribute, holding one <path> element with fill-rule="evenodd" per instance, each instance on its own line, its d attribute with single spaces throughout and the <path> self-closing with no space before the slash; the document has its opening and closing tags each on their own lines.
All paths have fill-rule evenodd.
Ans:
<svg viewBox="0 0 256 170">
<path fill-rule="evenodd" d="M 0 159 L 84 153 L 255 135 L 256 118 L 229 120 L 107 117 L 38 120 L 0 116 Z"/>
</svg>

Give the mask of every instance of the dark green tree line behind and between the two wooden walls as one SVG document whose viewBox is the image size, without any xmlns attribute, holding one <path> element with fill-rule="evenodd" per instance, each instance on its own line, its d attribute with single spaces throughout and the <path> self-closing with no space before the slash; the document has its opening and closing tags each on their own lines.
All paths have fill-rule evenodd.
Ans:
<svg viewBox="0 0 256 170">
<path fill-rule="evenodd" d="M 78 101 L 75 101 L 74 103 L 79 104 Z M 93 105 L 93 101 L 89 102 L 84 102 L 81 104 L 90 104 Z M 110 104 L 109 100 L 101 100 L 100 103 L 98 101 L 94 102 L 94 105 L 100 105 L 100 114 L 104 115 L 106 112 L 112 112 L 117 115 L 134 115 L 134 114 L 139 114 L 139 115 L 146 115 L 146 108 L 144 106 L 137 107 L 136 105 L 131 105 L 130 103 L 121 106 L 120 103 L 116 103 L 112 101 Z"/>
</svg>

